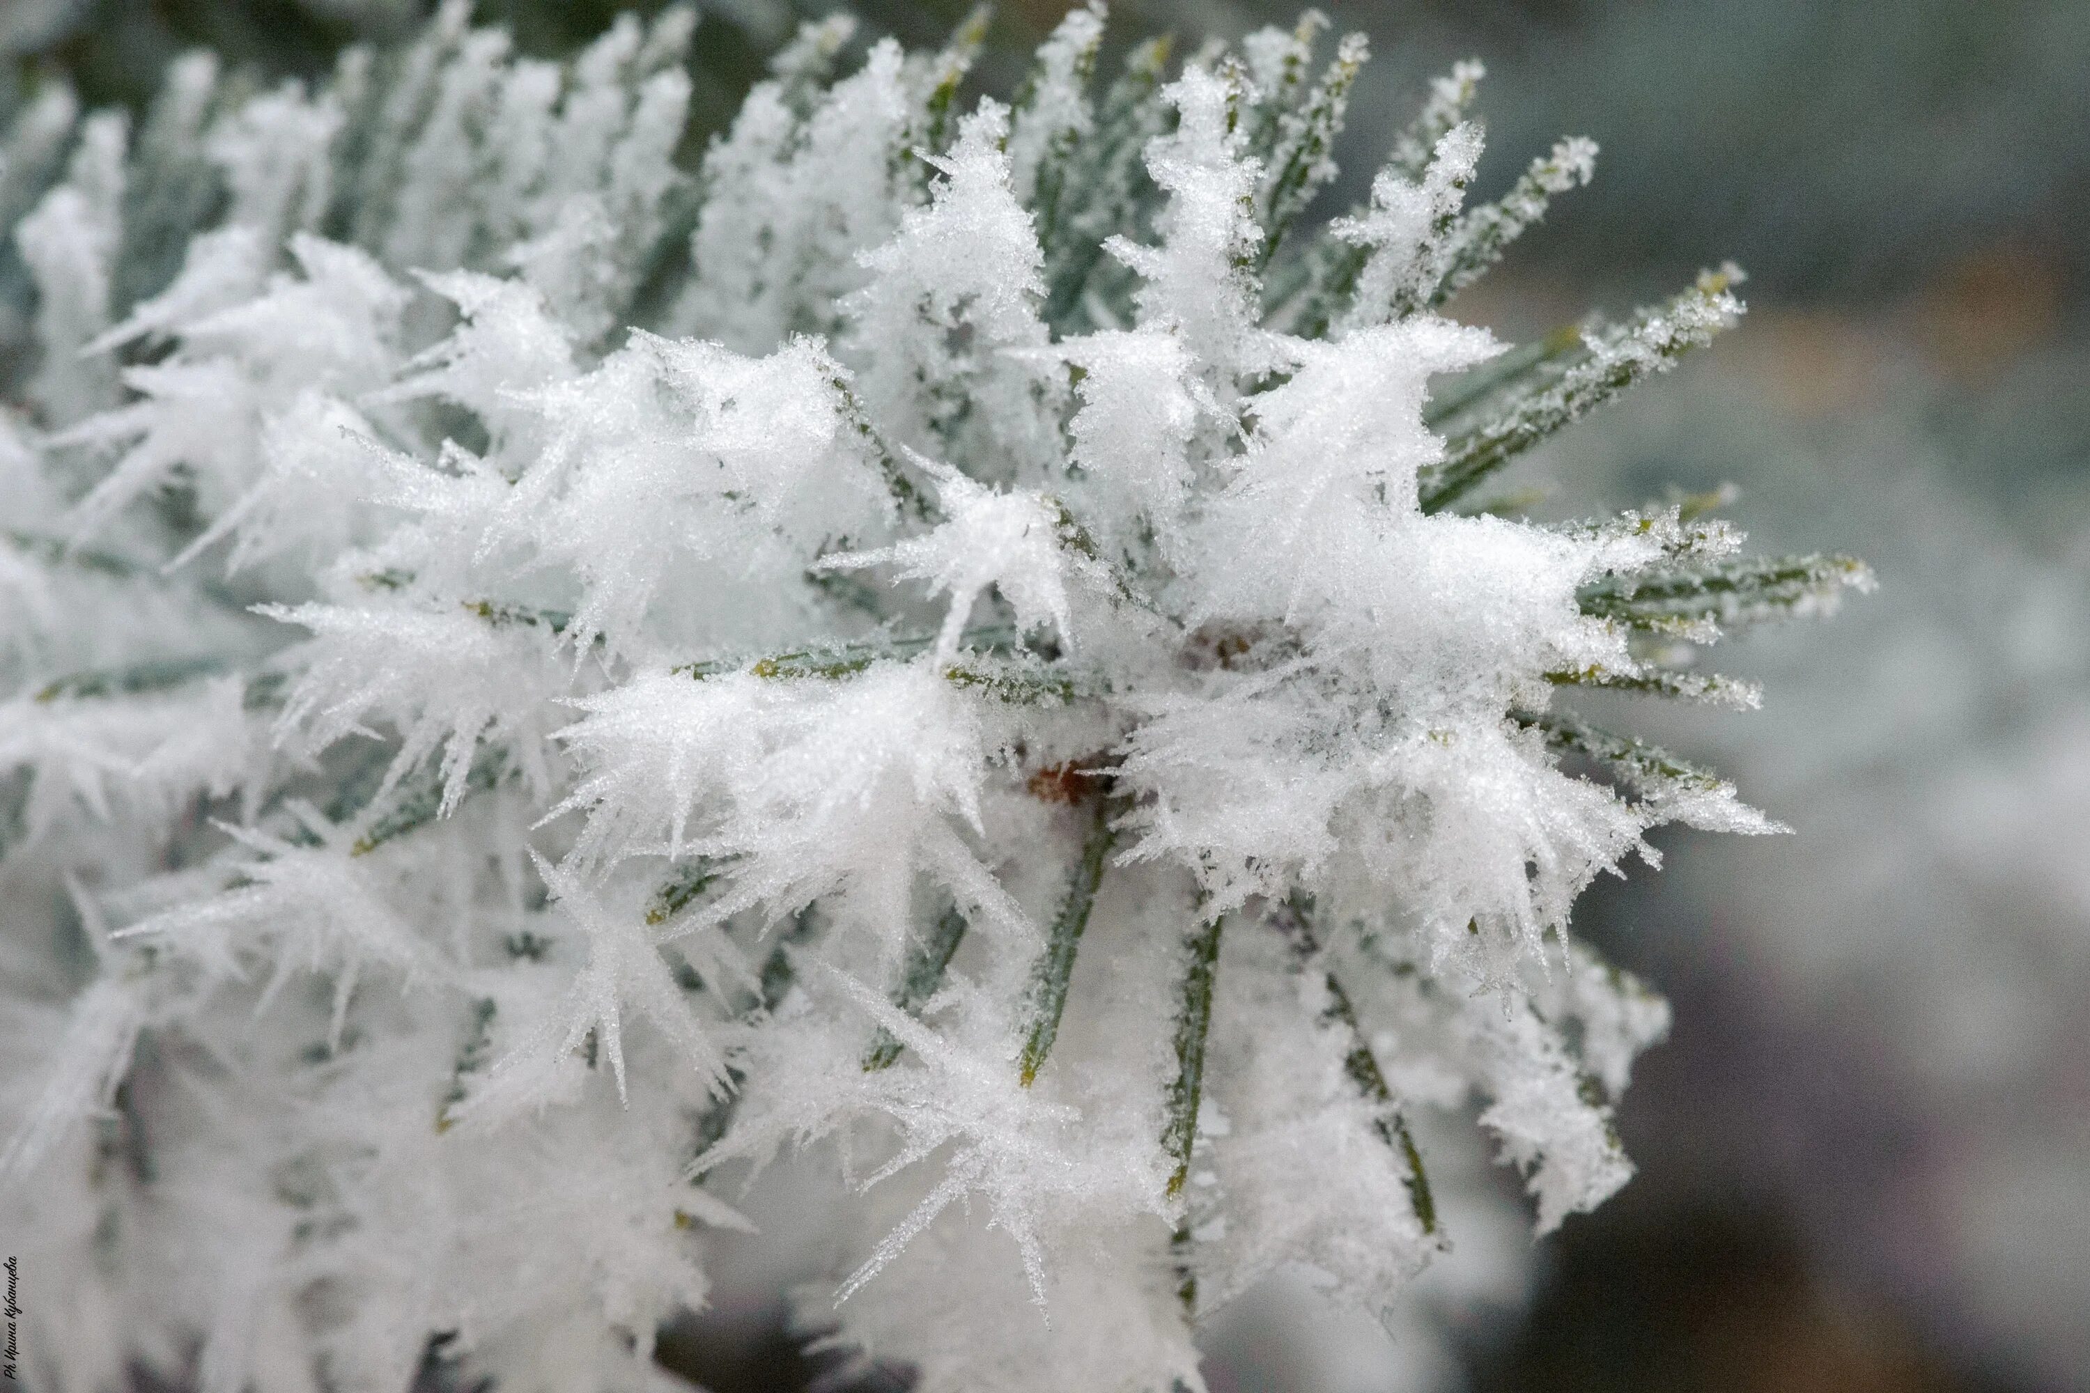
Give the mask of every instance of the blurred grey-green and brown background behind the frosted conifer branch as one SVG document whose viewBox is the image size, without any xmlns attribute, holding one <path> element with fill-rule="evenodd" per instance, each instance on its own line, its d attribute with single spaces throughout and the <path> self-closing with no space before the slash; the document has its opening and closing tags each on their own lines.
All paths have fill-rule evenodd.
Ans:
<svg viewBox="0 0 2090 1393">
<path fill-rule="evenodd" d="M 719 123 L 800 10 L 704 0 Z M 525 48 L 608 0 L 483 0 Z M 637 6 L 656 8 L 656 6 Z M 823 4 L 811 8 L 828 8 Z M 949 0 L 865 0 L 934 42 Z M 1012 0 L 989 88 L 1064 6 Z M 1634 712 L 1797 835 L 1657 837 L 1578 913 L 1676 1007 L 1626 1094 L 1639 1178 L 1425 1295 L 1415 1328 L 1273 1291 L 1212 1330 L 1214 1391 L 2090 1387 L 2090 4 L 1363 0 L 1354 203 L 1427 75 L 1488 65 L 1482 196 L 1561 134 L 1593 188 L 1455 313 L 1528 338 L 1726 257 L 1741 332 L 1522 470 L 1622 507 L 1731 482 L 1766 551 L 1852 551 L 1879 593 L 1714 658 L 1762 712 Z M 0 0 L 0 115 L 46 75 L 138 104 L 192 44 L 261 75 L 410 27 L 418 0 Z M 1237 36 L 1290 4 L 1141 0 L 1118 33 Z M 1505 1195 L 1515 1178 L 1501 1176 Z M 777 1280 L 788 1255 L 773 1259 Z M 817 1376 L 723 1293 L 671 1357 L 717 1393 Z M 736 1305 L 740 1301 L 740 1305 Z"/>
</svg>

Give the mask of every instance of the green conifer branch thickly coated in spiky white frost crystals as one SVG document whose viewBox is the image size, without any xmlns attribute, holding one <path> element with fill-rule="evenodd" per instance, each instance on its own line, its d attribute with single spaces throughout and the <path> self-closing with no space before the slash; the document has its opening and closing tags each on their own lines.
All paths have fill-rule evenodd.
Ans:
<svg viewBox="0 0 2090 1393">
<path fill-rule="evenodd" d="M 1741 313 L 1444 303 L 1478 67 L 1369 205 L 1325 21 L 1014 102 L 807 25 L 696 167 L 694 15 L 568 65 L 451 4 L 324 84 L 50 86 L 0 169 L 0 1205 L 48 1389 L 654 1387 L 725 1176 L 861 1195 L 809 1320 L 918 1387 L 1202 1387 L 1285 1264 L 1628 1176 L 1666 1007 L 1572 940 L 1666 821 L 1772 825 L 1557 700 L 1864 583 L 1697 501 L 1499 516 Z M 33 359 L 33 361 L 31 361 Z"/>
</svg>

